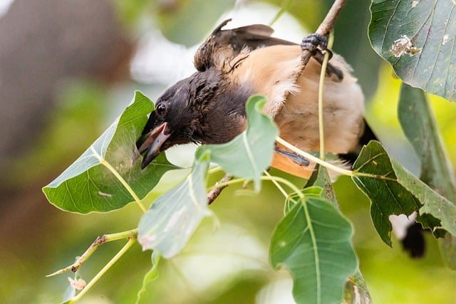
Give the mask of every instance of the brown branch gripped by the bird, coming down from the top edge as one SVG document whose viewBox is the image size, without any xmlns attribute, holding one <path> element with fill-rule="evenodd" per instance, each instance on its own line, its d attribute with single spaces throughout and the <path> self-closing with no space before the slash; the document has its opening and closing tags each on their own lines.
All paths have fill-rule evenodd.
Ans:
<svg viewBox="0 0 456 304">
<path fill-rule="evenodd" d="M 333 6 L 331 6 L 331 9 L 329 9 L 328 14 L 326 14 L 325 19 L 323 19 L 320 26 L 318 26 L 316 33 L 323 35 L 323 36 L 328 35 L 328 33 L 333 29 L 334 22 L 336 22 L 336 18 L 342 9 L 342 6 L 345 3 L 346 3 L 346 0 L 335 0 L 334 1 Z M 296 78 L 294 80 L 295 83 L 301 76 L 301 73 L 304 71 L 304 68 L 306 68 L 307 63 L 309 63 L 311 56 L 312 56 L 312 54 L 310 51 L 308 51 L 308 50 L 302 51 L 302 53 L 301 53 L 301 70 L 296 75 Z M 289 92 L 286 92 L 284 95 L 284 100 L 286 100 L 288 98 L 288 95 L 289 95 Z M 273 108 L 269 112 L 269 116 L 272 119 L 274 119 L 274 117 L 276 117 L 276 115 L 279 114 L 279 112 L 282 110 L 283 107 L 284 107 L 283 103 L 277 104 L 276 108 Z M 217 182 L 217 184 L 228 182 L 230 179 L 232 179 L 232 177 L 229 177 L 229 175 L 227 174 L 222 179 L 220 179 L 219 182 Z M 209 204 L 209 205 L 212 204 L 212 202 L 215 199 L 217 199 L 217 197 L 220 195 L 220 193 L 222 193 L 222 190 L 225 189 L 226 187 L 227 186 L 223 186 L 223 187 L 212 189 L 207 194 L 207 204 Z"/>
</svg>

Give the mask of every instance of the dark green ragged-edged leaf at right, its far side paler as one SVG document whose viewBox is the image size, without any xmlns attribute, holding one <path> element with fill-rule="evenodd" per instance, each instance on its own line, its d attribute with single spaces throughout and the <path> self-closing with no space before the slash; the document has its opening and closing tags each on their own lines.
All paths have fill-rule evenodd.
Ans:
<svg viewBox="0 0 456 304">
<path fill-rule="evenodd" d="M 352 179 L 371 200 L 373 225 L 389 246 L 391 214 L 410 215 L 419 211 L 417 221 L 435 236 L 443 236 L 440 228 L 455 233 L 456 206 L 392 161 L 379 142 L 371 141 L 363 147 L 353 164 Z"/>
</svg>

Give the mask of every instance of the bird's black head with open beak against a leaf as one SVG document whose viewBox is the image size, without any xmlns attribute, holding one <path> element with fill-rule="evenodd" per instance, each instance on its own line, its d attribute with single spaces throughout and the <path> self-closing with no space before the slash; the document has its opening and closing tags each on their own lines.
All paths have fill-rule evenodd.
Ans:
<svg viewBox="0 0 456 304">
<path fill-rule="evenodd" d="M 169 147 L 204 142 L 208 128 L 205 117 L 216 103 L 221 79 L 221 73 L 215 70 L 197 72 L 177 82 L 157 99 L 137 143 L 141 154 L 147 151 L 142 168 Z"/>
</svg>

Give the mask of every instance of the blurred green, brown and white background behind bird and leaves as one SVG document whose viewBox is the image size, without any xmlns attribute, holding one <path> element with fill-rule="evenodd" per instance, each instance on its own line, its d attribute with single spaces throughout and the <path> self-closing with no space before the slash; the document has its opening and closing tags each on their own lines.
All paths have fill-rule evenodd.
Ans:
<svg viewBox="0 0 456 304">
<path fill-rule="evenodd" d="M 368 43 L 368 2 L 348 1 L 336 22 L 333 49 L 353 66 L 373 130 L 393 157 L 419 174 L 397 120 L 400 81 Z M 269 23 L 285 5 L 275 36 L 299 42 L 315 30 L 331 1 L 0 1 L 0 303 L 58 303 L 72 275 L 47 274 L 73 263 L 96 236 L 138 226 L 138 206 L 69 214 L 48 204 L 41 187 L 86 150 L 134 90 L 155 100 L 190 75 L 192 54 L 218 22 Z M 455 107 L 432 98 L 452 164 Z M 189 166 L 194 149 L 173 149 L 169 157 Z M 151 196 L 187 172 L 169 172 Z M 221 177 L 214 175 L 211 182 Z M 369 202 L 350 179 L 341 177 L 335 188 L 355 227 L 353 242 L 374 303 L 456 303 L 456 273 L 445 268 L 430 234 L 425 257 L 412 260 L 396 239 L 393 248 L 380 241 Z M 268 263 L 283 204 L 271 184 L 253 196 L 237 187 L 225 190 L 212 206 L 219 226 L 205 219 L 185 251 L 162 260 L 160 276 L 141 303 L 293 303 L 288 273 L 274 272 Z M 123 244 L 101 246 L 81 269 L 83 278 L 89 281 Z M 150 252 L 135 244 L 81 303 L 134 303 L 149 268 Z"/>
</svg>

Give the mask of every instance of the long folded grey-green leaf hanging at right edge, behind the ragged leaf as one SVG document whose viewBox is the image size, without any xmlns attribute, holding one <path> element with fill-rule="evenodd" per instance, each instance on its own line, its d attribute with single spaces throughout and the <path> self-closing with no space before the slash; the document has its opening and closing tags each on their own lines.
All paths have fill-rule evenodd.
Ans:
<svg viewBox="0 0 456 304">
<path fill-rule="evenodd" d="M 400 88 L 398 116 L 405 136 L 420 157 L 420 179 L 450 201 L 456 201 L 455 173 L 423 90 L 403 83 Z M 445 236 L 439 241 L 439 246 L 445 264 L 456 269 L 456 236 Z"/>
</svg>

